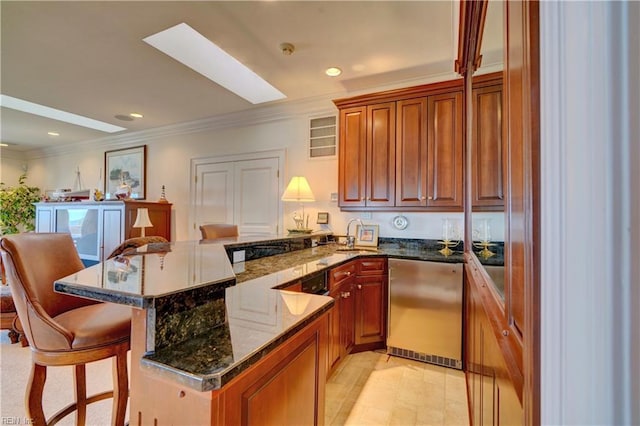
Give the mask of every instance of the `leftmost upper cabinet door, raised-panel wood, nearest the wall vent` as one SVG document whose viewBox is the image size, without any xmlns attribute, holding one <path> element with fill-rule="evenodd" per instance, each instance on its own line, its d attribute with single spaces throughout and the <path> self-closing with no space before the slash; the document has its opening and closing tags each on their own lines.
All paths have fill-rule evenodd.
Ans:
<svg viewBox="0 0 640 426">
<path fill-rule="evenodd" d="M 366 107 L 340 110 L 338 185 L 340 207 L 364 207 L 367 178 Z"/>
</svg>

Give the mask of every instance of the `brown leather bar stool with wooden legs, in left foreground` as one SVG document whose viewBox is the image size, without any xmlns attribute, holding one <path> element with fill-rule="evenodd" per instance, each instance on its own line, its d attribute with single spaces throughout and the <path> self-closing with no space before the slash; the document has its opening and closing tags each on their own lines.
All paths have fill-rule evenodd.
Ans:
<svg viewBox="0 0 640 426">
<path fill-rule="evenodd" d="M 53 282 L 84 268 L 69 234 L 23 233 L 0 239 L 7 281 L 27 341 L 32 369 L 27 416 L 55 424 L 76 412 L 84 425 L 87 404 L 113 397 L 112 424 L 123 425 L 127 399 L 127 351 L 131 308 L 56 293 Z M 87 397 L 85 364 L 113 357 L 113 391 Z M 49 366 L 74 366 L 76 402 L 45 418 L 42 395 Z"/>
</svg>

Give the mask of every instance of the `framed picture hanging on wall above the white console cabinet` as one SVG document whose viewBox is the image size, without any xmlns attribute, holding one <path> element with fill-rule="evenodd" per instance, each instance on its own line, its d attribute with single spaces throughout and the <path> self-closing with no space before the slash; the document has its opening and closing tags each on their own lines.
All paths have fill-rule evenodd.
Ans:
<svg viewBox="0 0 640 426">
<path fill-rule="evenodd" d="M 130 195 L 124 198 L 144 200 L 147 192 L 147 146 L 117 149 L 104 153 L 104 193 L 107 199 L 117 199 L 126 183 L 131 188 Z M 120 190 L 120 191 L 119 191 Z"/>
</svg>

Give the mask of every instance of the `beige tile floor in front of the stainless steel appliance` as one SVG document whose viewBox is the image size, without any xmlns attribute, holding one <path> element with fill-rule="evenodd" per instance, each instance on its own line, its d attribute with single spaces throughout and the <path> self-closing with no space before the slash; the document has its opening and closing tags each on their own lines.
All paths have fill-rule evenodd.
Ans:
<svg viewBox="0 0 640 426">
<path fill-rule="evenodd" d="M 469 424 L 464 373 L 418 361 L 361 352 L 327 382 L 325 424 Z"/>
</svg>

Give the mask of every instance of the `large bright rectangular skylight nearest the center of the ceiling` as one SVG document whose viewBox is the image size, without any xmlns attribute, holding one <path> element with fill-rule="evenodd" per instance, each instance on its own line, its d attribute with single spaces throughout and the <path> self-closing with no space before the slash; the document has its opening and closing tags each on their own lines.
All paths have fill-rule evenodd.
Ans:
<svg viewBox="0 0 640 426">
<path fill-rule="evenodd" d="M 258 74 L 185 23 L 143 40 L 252 104 L 286 98 Z"/>
</svg>

